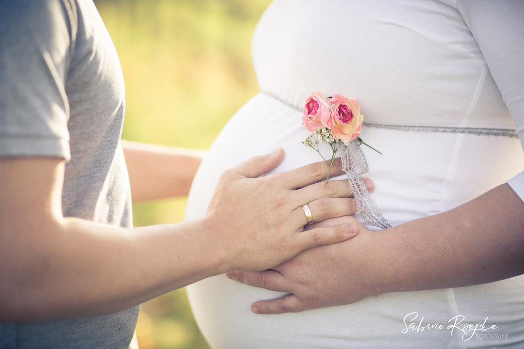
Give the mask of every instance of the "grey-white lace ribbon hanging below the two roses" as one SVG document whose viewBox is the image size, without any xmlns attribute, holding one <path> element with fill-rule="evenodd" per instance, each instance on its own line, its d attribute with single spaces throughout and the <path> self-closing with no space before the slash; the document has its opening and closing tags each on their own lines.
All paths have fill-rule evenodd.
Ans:
<svg viewBox="0 0 524 349">
<path fill-rule="evenodd" d="M 337 142 L 338 151 L 342 160 L 342 170 L 347 174 L 351 191 L 355 197 L 357 212 L 356 215 L 364 222 L 372 226 L 387 229 L 391 224 L 384 218 L 382 213 L 375 205 L 371 195 L 361 179 L 361 175 L 369 171 L 366 157 L 357 142 L 353 141 L 347 145 L 343 142 Z"/>
</svg>

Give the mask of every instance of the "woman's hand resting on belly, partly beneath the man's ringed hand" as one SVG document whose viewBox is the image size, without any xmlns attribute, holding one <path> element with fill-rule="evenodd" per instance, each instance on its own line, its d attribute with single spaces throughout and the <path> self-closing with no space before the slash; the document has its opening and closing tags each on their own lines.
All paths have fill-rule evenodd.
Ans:
<svg viewBox="0 0 524 349">
<path fill-rule="evenodd" d="M 352 216 L 339 217 L 313 224 L 320 227 L 336 227 L 356 224 L 359 235 L 351 241 L 319 246 L 301 252 L 291 260 L 261 272 L 229 272 L 226 275 L 238 282 L 289 292 L 280 298 L 255 302 L 251 309 L 259 314 L 279 314 L 354 303 L 370 296 L 362 284 L 365 275 L 359 275 L 355 261 L 359 253 L 366 251 L 366 239 L 370 231 Z M 351 291 L 350 291 L 351 290 Z"/>
</svg>

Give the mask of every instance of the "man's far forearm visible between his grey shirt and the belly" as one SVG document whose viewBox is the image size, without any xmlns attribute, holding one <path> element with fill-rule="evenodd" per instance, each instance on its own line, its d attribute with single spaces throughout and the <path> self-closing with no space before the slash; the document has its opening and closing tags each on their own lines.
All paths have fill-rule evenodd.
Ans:
<svg viewBox="0 0 524 349">
<path fill-rule="evenodd" d="M 204 151 L 122 141 L 133 202 L 185 196 Z"/>
</svg>

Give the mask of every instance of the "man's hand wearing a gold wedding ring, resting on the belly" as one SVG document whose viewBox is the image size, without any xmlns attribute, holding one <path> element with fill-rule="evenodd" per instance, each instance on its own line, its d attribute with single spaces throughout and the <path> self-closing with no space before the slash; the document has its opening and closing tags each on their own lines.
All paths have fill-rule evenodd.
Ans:
<svg viewBox="0 0 524 349">
<path fill-rule="evenodd" d="M 217 249 L 223 249 L 225 270 L 260 271 L 311 247 L 344 241 L 355 236 L 355 224 L 316 227 L 307 224 L 303 205 L 314 221 L 351 215 L 355 202 L 347 181 L 329 181 L 324 162 L 263 176 L 283 159 L 278 149 L 226 170 L 216 187 L 204 221 L 209 223 Z M 340 159 L 332 174 L 342 174 Z"/>
</svg>

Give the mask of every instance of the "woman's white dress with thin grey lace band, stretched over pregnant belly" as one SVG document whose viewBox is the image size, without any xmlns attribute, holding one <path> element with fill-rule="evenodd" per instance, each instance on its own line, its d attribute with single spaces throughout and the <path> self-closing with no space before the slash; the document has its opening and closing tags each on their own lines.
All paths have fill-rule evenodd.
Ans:
<svg viewBox="0 0 524 349">
<path fill-rule="evenodd" d="M 186 218 L 203 216 L 220 173 L 249 157 L 282 147 L 286 156 L 276 172 L 320 161 L 300 143 L 308 133 L 296 109 L 313 91 L 355 97 L 365 123 L 454 128 L 363 127 L 362 139 L 383 153 L 363 147 L 370 168 L 366 177 L 375 183 L 372 197 L 392 226 L 452 209 L 523 171 L 518 138 L 451 132 L 515 130 L 515 124 L 520 132 L 524 125 L 522 63 L 509 55 L 519 64 L 509 74 L 520 76 L 515 93 L 515 79 L 500 68 L 507 50 L 481 51 L 484 27 L 490 26 L 475 29 L 478 14 L 461 6 L 430 0 L 273 3 L 253 38 L 262 92 L 237 112 L 212 145 L 194 179 Z M 504 15 L 521 21 L 521 9 Z M 500 16 L 491 9 L 484 12 Z M 496 27 L 504 32 L 514 22 L 506 18 Z M 520 25 L 520 46 L 510 45 L 519 52 L 524 52 L 522 32 Z M 488 43 L 507 45 L 500 41 Z M 497 74 L 490 73 L 488 64 L 492 72 L 499 69 Z M 514 179 L 514 189 L 520 178 Z M 524 347 L 524 277 L 383 294 L 348 306 L 271 316 L 254 314 L 250 306 L 282 292 L 246 286 L 224 275 L 189 286 L 188 294 L 214 349 Z M 448 329 L 456 316 L 463 317 L 457 328 L 485 322 L 485 331 Z M 443 328 L 420 331 L 435 323 Z"/>
</svg>

